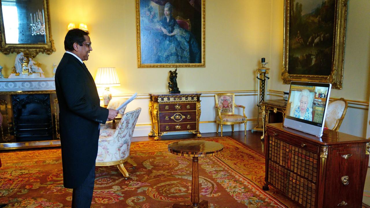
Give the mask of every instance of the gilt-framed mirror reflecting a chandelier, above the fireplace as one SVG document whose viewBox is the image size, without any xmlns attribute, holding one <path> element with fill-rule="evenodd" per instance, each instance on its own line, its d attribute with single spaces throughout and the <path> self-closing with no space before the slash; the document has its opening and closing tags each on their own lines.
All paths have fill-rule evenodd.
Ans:
<svg viewBox="0 0 370 208">
<path fill-rule="evenodd" d="M 48 0 L 37 0 L 37 1 L 20 1 L 11 2 L 0 0 L 0 51 L 7 55 L 10 53 L 21 53 L 28 54 L 31 57 L 35 57 L 38 53 L 45 53 L 50 55 L 55 51 L 54 41 L 51 36 L 51 27 L 50 27 L 50 13 L 49 13 L 49 1 Z M 19 32 L 20 43 L 12 43 L 6 40 L 6 37 L 10 37 L 9 34 L 6 35 L 6 29 L 4 27 L 4 17 L 5 14 L 2 8 L 2 4 L 14 4 L 14 7 L 17 7 L 17 11 L 23 11 L 24 13 L 18 14 L 18 17 L 23 17 L 24 19 L 19 19 L 18 27 L 23 28 Z M 37 4 L 36 4 L 37 3 Z M 9 5 L 7 5 L 9 7 Z M 37 7 L 40 5 L 40 7 Z M 10 5 L 11 6 L 11 5 Z M 32 17 L 36 18 L 36 14 L 40 13 L 40 20 L 44 24 L 44 34 L 31 35 L 31 27 L 29 23 L 33 23 Z M 7 12 L 9 14 L 9 12 Z M 31 16 L 29 16 L 31 14 Z M 32 14 L 34 16 L 32 16 Z M 11 19 L 7 17 L 7 19 Z M 33 19 L 33 20 L 31 20 Z M 35 21 L 36 23 L 36 21 Z M 14 25 L 14 27 L 16 27 Z M 38 40 L 36 37 L 39 37 Z M 32 41 L 31 41 L 32 40 Z"/>
</svg>

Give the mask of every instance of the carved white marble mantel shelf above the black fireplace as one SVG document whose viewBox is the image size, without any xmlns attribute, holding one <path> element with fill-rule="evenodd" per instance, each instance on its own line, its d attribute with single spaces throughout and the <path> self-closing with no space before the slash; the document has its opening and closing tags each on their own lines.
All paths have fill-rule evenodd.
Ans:
<svg viewBox="0 0 370 208">
<path fill-rule="evenodd" d="M 0 79 L 0 91 L 43 91 L 43 90 L 55 90 L 54 77 Z"/>
</svg>

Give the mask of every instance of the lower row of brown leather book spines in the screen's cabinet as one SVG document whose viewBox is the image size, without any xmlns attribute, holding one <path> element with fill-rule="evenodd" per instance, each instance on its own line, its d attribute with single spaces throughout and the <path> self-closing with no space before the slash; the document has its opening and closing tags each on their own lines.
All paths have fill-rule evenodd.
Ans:
<svg viewBox="0 0 370 208">
<path fill-rule="evenodd" d="M 304 207 L 315 207 L 316 185 L 305 178 L 269 162 L 268 182 Z"/>
</svg>

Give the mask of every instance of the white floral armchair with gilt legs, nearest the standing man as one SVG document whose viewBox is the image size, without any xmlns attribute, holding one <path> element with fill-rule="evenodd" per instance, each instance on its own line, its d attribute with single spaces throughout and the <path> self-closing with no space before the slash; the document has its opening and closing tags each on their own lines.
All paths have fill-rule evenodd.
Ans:
<svg viewBox="0 0 370 208">
<path fill-rule="evenodd" d="M 140 111 L 141 108 L 136 108 L 125 113 L 117 129 L 100 130 L 96 166 L 117 165 L 127 180 L 128 172 L 123 165 L 124 162 L 127 161 L 134 167 L 137 165 L 130 158 L 130 145 Z"/>
</svg>

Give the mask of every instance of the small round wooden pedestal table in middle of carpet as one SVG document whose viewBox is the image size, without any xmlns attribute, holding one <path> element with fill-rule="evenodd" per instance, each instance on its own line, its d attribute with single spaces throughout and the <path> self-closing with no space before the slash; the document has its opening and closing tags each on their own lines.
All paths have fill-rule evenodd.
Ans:
<svg viewBox="0 0 370 208">
<path fill-rule="evenodd" d="M 199 202 L 199 170 L 198 157 L 219 154 L 223 145 L 213 141 L 187 140 L 177 141 L 168 145 L 168 151 L 175 155 L 193 157 L 191 180 L 191 205 L 174 204 L 173 208 L 208 208 L 208 201 Z"/>
</svg>

